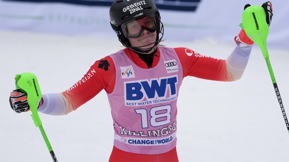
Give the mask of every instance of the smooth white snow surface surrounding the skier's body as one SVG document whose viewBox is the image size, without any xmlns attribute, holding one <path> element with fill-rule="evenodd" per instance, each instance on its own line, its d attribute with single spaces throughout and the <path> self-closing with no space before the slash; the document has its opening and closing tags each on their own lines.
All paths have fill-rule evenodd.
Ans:
<svg viewBox="0 0 289 162">
<path fill-rule="evenodd" d="M 226 59 L 235 46 L 233 40 L 210 38 L 162 44 L 219 59 Z M 62 92 L 94 61 L 121 48 L 116 37 L 0 31 L 0 162 L 52 162 L 31 112 L 16 114 L 10 108 L 16 74 L 34 73 L 43 94 Z M 269 54 L 289 115 L 289 51 L 269 49 Z M 104 91 L 67 116 L 39 116 L 59 162 L 108 161 L 113 122 Z M 289 133 L 257 45 L 239 81 L 184 79 L 177 137 L 180 162 L 289 162 Z"/>
</svg>

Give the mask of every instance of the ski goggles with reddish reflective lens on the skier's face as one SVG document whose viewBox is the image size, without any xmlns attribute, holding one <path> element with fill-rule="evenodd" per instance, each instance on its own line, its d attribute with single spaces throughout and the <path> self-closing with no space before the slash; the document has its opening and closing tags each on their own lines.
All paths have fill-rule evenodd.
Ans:
<svg viewBox="0 0 289 162">
<path fill-rule="evenodd" d="M 155 32 L 159 28 L 159 18 L 156 13 L 147 14 L 122 24 L 121 28 L 126 38 L 138 38 L 144 30 Z"/>
</svg>

